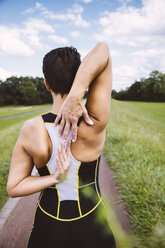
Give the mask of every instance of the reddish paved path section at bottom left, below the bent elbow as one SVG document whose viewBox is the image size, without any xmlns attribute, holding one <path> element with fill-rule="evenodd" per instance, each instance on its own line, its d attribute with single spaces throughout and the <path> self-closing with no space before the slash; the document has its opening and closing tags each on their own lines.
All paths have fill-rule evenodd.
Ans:
<svg viewBox="0 0 165 248">
<path fill-rule="evenodd" d="M 37 199 L 38 193 L 20 199 L 0 232 L 0 248 L 26 247 Z"/>
</svg>

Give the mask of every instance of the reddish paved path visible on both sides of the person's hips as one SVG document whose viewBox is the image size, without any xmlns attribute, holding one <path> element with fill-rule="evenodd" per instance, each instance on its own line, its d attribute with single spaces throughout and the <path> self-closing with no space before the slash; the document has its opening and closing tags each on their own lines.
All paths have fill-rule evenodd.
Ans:
<svg viewBox="0 0 165 248">
<path fill-rule="evenodd" d="M 128 214 L 126 213 L 124 206 L 119 203 L 117 187 L 112 180 L 113 175 L 114 173 L 110 170 L 105 158 L 102 157 L 99 173 L 101 191 L 115 204 L 115 212 L 119 222 L 125 232 L 129 232 L 130 225 Z M 21 197 L 0 232 L 0 248 L 26 247 L 38 196 L 39 193 Z"/>
</svg>

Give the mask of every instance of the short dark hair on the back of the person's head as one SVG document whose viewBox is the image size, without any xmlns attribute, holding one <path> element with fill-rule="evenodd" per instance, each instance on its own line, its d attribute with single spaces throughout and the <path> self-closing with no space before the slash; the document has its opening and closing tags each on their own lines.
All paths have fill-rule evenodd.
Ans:
<svg viewBox="0 0 165 248">
<path fill-rule="evenodd" d="M 44 56 L 44 77 L 54 93 L 69 93 L 80 63 L 80 54 L 74 47 L 56 48 Z"/>
</svg>

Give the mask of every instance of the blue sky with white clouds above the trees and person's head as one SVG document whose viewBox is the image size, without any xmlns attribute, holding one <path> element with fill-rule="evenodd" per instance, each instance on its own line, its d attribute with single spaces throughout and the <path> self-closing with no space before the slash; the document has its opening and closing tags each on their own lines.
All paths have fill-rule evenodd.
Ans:
<svg viewBox="0 0 165 248">
<path fill-rule="evenodd" d="M 117 91 L 165 72 L 165 0 L 0 0 L 0 80 L 43 76 L 50 50 L 73 46 L 83 59 L 98 42 Z"/>
</svg>

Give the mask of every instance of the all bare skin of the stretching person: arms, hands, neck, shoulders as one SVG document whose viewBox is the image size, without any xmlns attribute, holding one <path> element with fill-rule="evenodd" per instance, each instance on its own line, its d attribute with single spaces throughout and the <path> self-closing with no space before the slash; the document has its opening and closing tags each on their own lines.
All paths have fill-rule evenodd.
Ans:
<svg viewBox="0 0 165 248">
<path fill-rule="evenodd" d="M 57 114 L 58 119 L 62 118 L 60 132 L 65 127 L 64 141 L 71 125 L 75 127 L 73 139 L 77 139 L 74 143 L 68 143 L 66 151 L 62 141 L 54 175 L 31 176 L 34 165 L 41 168 L 49 161 L 52 143 L 41 116 L 26 121 L 11 159 L 7 182 L 7 192 L 11 197 L 29 195 L 65 180 L 70 166 L 70 150 L 77 160 L 90 162 L 100 156 L 104 147 L 112 88 L 111 58 L 107 45 L 97 44 L 84 58 L 68 95 L 62 98 L 52 92 L 46 82 L 45 85 L 53 97 L 52 113 Z M 88 87 L 89 96 L 84 108 L 82 99 Z M 77 131 L 77 121 L 84 109 L 93 125 L 82 120 Z"/>
</svg>

